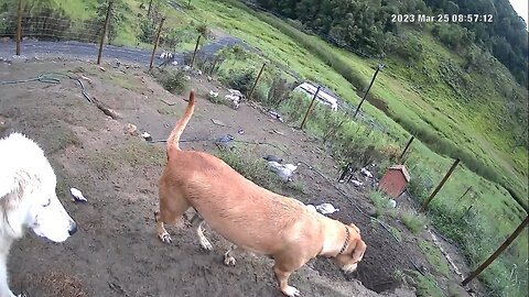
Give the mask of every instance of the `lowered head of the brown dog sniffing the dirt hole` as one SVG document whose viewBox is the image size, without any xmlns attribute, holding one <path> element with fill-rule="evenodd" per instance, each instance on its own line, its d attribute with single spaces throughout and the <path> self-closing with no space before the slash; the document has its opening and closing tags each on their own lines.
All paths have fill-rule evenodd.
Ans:
<svg viewBox="0 0 529 297">
<path fill-rule="evenodd" d="M 349 242 L 347 249 L 335 257 L 335 262 L 345 273 L 352 273 L 358 266 L 358 262 L 364 257 L 366 243 L 360 238 L 360 230 L 354 223 L 346 227 L 349 231 Z"/>
</svg>

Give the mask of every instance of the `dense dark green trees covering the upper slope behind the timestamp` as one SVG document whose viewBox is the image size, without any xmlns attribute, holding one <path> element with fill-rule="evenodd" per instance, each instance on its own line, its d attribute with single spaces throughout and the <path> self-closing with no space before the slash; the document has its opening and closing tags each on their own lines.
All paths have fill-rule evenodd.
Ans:
<svg viewBox="0 0 529 297">
<path fill-rule="evenodd" d="M 371 55 L 397 53 L 401 57 L 417 57 L 420 46 L 401 51 L 402 41 L 396 38 L 403 26 L 413 23 L 421 33 L 432 30 L 441 43 L 458 53 L 465 52 L 473 43 L 478 44 L 507 66 L 518 82 L 526 87 L 528 84 L 526 24 L 508 0 L 495 1 L 494 6 L 486 0 L 258 0 L 257 3 L 298 21 L 330 42 Z M 412 16 L 399 20 L 398 14 Z M 415 20 L 419 14 L 435 15 L 438 21 L 424 25 Z M 446 20 L 441 21 L 442 18 Z"/>
</svg>

